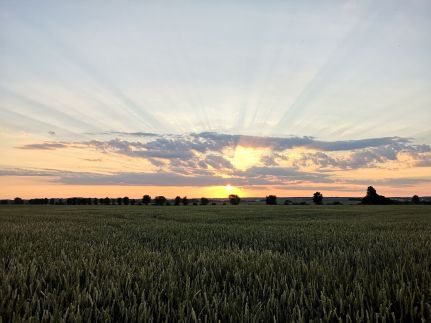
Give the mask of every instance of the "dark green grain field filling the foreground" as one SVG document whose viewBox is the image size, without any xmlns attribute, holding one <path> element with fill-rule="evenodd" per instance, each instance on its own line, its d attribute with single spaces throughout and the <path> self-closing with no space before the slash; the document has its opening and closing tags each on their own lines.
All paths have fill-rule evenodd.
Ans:
<svg viewBox="0 0 431 323">
<path fill-rule="evenodd" d="M 430 206 L 0 207 L 0 322 L 430 321 Z"/>
</svg>

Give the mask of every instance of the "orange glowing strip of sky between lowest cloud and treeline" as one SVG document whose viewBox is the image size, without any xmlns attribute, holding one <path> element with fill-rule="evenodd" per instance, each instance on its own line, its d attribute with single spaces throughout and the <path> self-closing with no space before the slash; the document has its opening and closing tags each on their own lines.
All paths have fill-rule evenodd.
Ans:
<svg viewBox="0 0 431 323">
<path fill-rule="evenodd" d="M 319 185 L 309 184 L 309 188 L 295 189 L 294 185 L 286 186 L 285 189 L 279 187 L 232 187 L 229 194 L 237 194 L 242 198 L 246 197 L 265 197 L 275 194 L 278 197 L 301 197 L 312 196 L 314 192 L 322 192 L 324 197 L 361 197 L 365 195 L 367 186 L 349 186 L 348 189 L 340 190 L 334 188 L 319 187 Z M 384 185 L 376 185 L 378 193 L 386 196 L 429 196 L 430 190 L 427 185 L 415 187 L 396 188 Z M 142 198 L 144 194 L 152 197 L 164 195 L 167 198 L 174 198 L 177 195 L 188 196 L 189 198 L 227 198 L 227 186 L 107 186 L 107 185 L 64 185 L 46 182 L 46 179 L 39 177 L 24 176 L 2 176 L 0 177 L 0 198 L 13 199 L 21 198 L 67 198 L 67 197 L 124 197 Z"/>
</svg>

